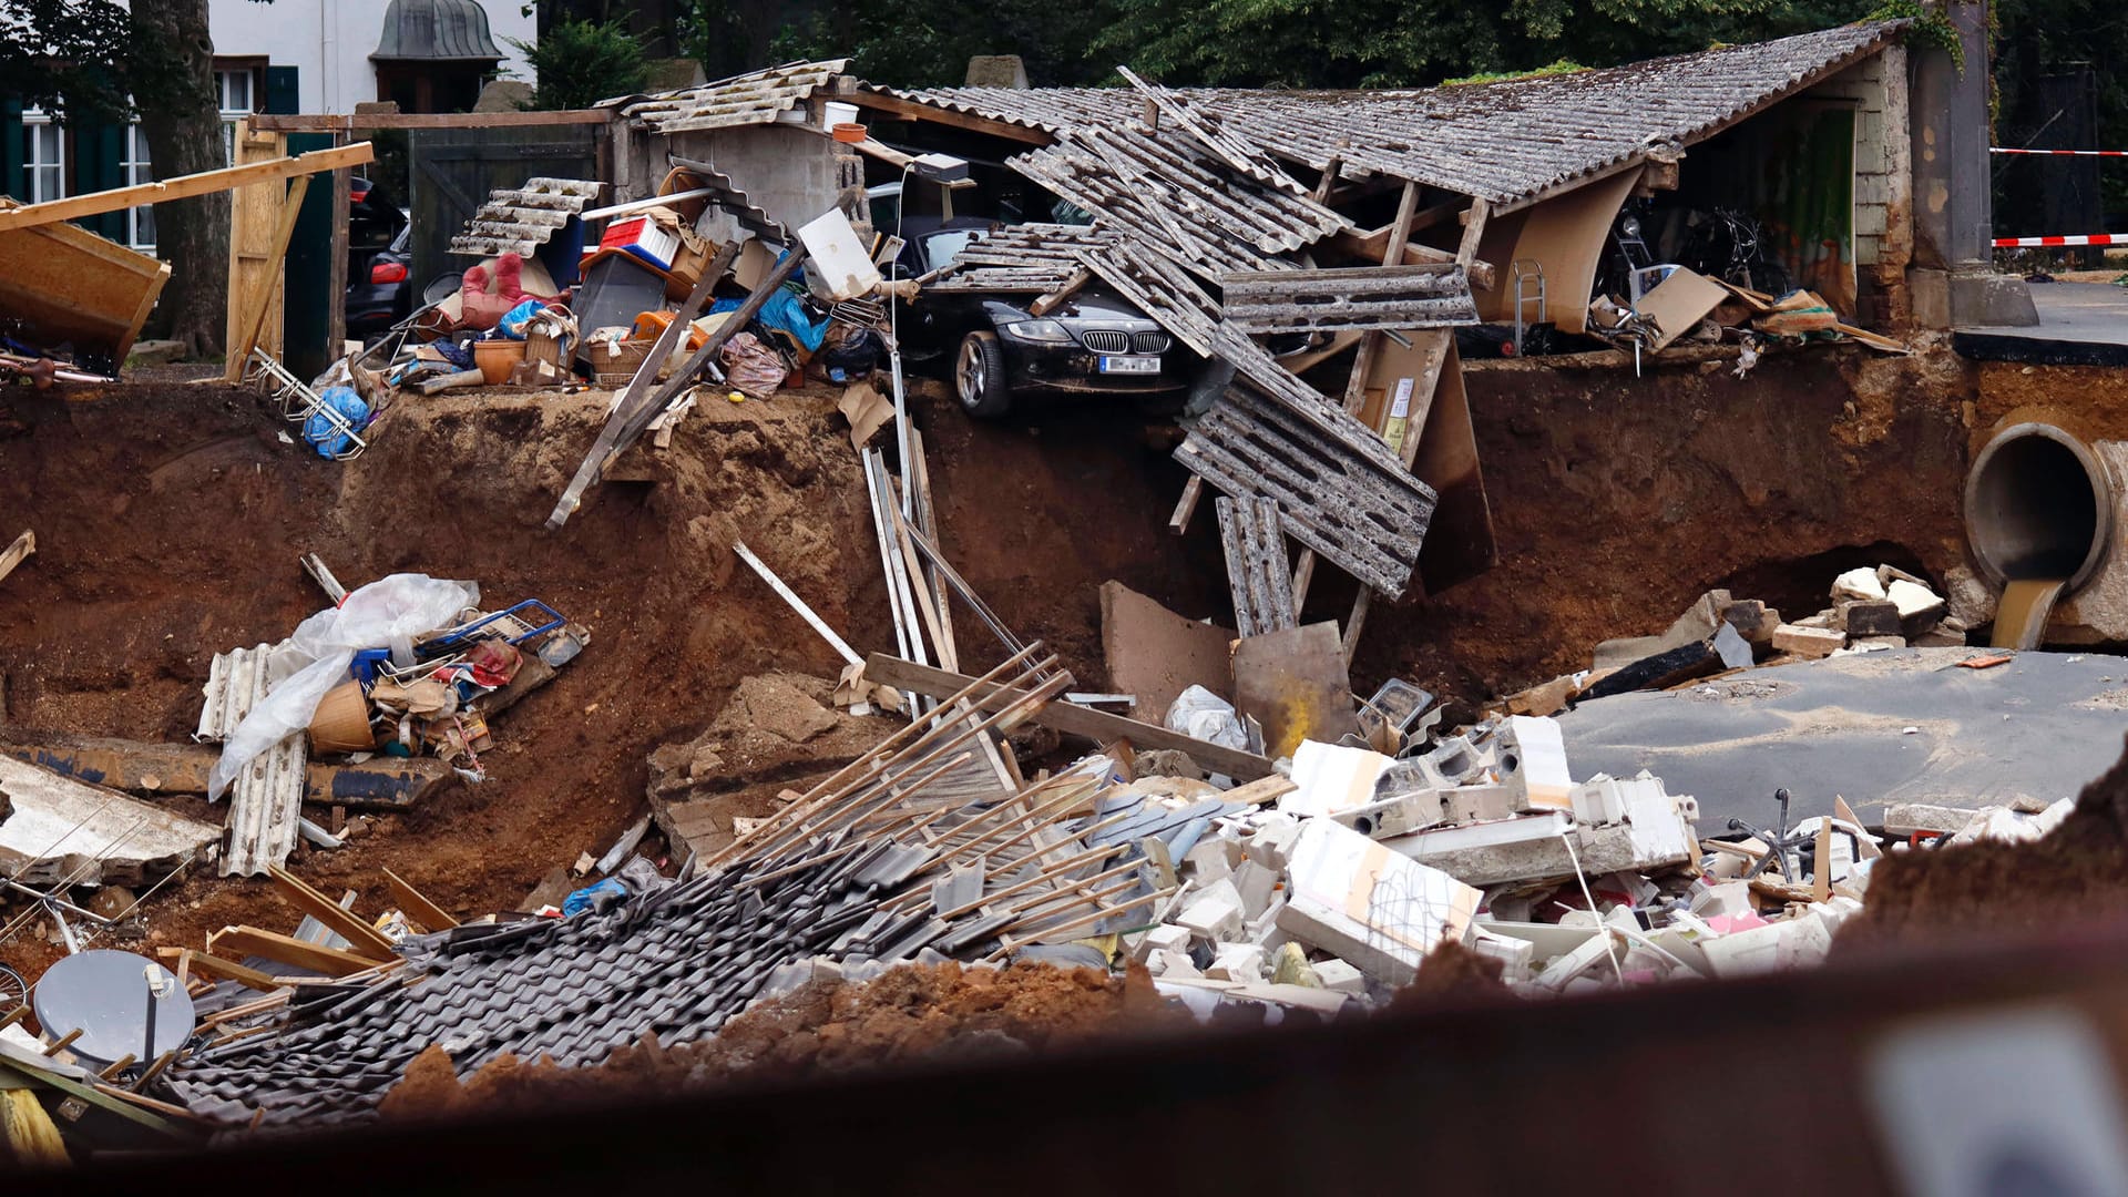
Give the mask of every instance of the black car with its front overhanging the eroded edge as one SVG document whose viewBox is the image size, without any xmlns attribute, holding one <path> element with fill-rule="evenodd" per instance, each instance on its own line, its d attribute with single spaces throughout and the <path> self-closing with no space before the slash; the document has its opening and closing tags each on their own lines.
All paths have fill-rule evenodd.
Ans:
<svg viewBox="0 0 2128 1197">
<path fill-rule="evenodd" d="M 902 273 L 951 262 L 990 228 L 962 217 L 928 232 L 904 230 Z M 909 309 L 902 339 L 919 351 L 951 354 L 953 394 L 970 415 L 1004 415 L 1026 392 L 1149 396 L 1190 388 L 1198 356 L 1098 283 L 1079 288 L 1049 315 L 1030 313 L 1032 298 L 924 296 Z"/>
</svg>

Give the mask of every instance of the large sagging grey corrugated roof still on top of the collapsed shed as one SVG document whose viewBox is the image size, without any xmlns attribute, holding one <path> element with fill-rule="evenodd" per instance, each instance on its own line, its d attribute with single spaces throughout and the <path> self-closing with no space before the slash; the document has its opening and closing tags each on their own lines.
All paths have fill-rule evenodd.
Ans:
<svg viewBox="0 0 2128 1197">
<path fill-rule="evenodd" d="M 1317 170 L 1413 179 L 1511 204 L 1641 158 L 1690 145 L 1760 106 L 1883 49 L 1907 21 L 1864 21 L 1770 43 L 1658 58 L 1607 70 L 1417 92 L 1181 89 L 1221 138 Z M 911 100 L 1055 134 L 1143 117 L 1117 87 L 943 87 Z"/>
</svg>

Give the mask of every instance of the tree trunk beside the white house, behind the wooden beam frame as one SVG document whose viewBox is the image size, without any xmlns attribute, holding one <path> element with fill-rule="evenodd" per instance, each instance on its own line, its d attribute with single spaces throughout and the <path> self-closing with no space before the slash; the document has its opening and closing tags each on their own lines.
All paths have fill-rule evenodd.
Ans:
<svg viewBox="0 0 2128 1197">
<path fill-rule="evenodd" d="M 206 0 L 134 0 L 132 58 L 155 179 L 228 166 Z M 230 194 L 155 204 L 155 249 L 170 262 L 170 283 L 151 328 L 192 356 L 217 356 L 228 324 Z"/>
</svg>

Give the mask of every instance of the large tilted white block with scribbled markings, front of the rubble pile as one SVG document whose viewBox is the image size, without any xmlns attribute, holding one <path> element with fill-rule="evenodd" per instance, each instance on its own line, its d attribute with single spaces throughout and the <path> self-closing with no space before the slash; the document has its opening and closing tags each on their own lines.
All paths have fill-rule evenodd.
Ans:
<svg viewBox="0 0 2128 1197">
<path fill-rule="evenodd" d="M 1330 820 L 1300 829 L 1290 882 L 1277 927 L 1383 984 L 1407 984 L 1443 939 L 1468 939 L 1479 901 L 1456 878 Z"/>
</svg>

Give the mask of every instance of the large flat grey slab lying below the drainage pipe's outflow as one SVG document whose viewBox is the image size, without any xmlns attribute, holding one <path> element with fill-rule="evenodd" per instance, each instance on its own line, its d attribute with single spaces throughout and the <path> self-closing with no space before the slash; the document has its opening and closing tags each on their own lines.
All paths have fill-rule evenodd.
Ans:
<svg viewBox="0 0 2128 1197">
<path fill-rule="evenodd" d="M 2122 756 L 2128 658 L 2024 652 L 1958 669 L 1971 647 L 1909 647 L 1751 669 L 1685 690 L 1617 694 L 1560 716 L 1575 777 L 1653 771 L 1700 801 L 1700 833 L 1764 826 L 1843 794 L 1866 822 L 1890 801 L 1981 807 L 2077 794 Z M 1907 728 L 1915 728 L 1907 733 Z"/>
</svg>

